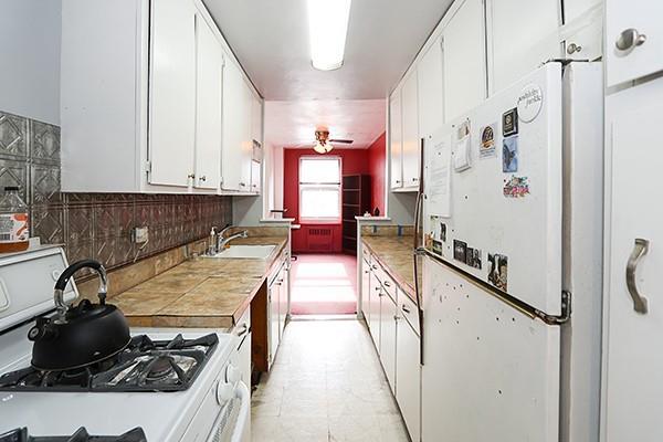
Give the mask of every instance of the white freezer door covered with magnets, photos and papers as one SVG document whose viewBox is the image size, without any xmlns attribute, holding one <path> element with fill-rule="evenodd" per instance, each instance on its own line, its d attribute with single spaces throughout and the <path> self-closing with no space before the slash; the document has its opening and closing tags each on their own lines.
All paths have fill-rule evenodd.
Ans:
<svg viewBox="0 0 663 442">
<path fill-rule="evenodd" d="M 548 63 L 427 143 L 427 246 L 550 315 L 561 311 L 562 84 Z"/>
</svg>

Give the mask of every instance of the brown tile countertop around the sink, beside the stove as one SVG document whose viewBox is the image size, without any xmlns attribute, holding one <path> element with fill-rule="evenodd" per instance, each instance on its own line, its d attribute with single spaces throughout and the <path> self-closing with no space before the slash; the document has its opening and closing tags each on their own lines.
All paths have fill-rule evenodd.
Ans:
<svg viewBox="0 0 663 442">
<path fill-rule="evenodd" d="M 238 239 L 232 244 L 276 248 L 266 260 L 197 257 L 112 298 L 131 327 L 231 328 L 287 244 L 283 236 Z"/>
</svg>

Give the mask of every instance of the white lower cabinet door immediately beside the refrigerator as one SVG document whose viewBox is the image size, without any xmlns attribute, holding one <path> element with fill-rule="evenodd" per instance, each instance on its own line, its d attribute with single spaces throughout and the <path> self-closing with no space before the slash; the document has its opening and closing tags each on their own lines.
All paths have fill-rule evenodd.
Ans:
<svg viewBox="0 0 663 442">
<path fill-rule="evenodd" d="M 404 295 L 403 295 L 404 296 Z M 402 318 L 397 323 L 396 399 L 412 441 L 421 433 L 421 366 L 419 337 Z"/>
</svg>

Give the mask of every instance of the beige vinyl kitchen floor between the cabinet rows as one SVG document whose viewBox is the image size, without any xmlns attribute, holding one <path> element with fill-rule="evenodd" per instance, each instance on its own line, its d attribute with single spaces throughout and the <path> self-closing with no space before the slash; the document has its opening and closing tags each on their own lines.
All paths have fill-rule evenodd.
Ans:
<svg viewBox="0 0 663 442">
<path fill-rule="evenodd" d="M 252 397 L 253 442 L 408 442 L 368 330 L 292 320 Z"/>
</svg>

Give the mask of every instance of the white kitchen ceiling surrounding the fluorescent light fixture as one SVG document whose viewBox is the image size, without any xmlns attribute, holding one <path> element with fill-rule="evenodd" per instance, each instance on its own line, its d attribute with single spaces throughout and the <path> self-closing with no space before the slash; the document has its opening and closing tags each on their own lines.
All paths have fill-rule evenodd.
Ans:
<svg viewBox="0 0 663 442">
<path fill-rule="evenodd" d="M 203 2 L 265 99 L 306 101 L 386 97 L 452 0 L 355 0 L 333 72 L 311 65 L 306 0 Z"/>
</svg>

